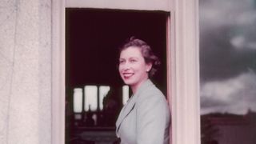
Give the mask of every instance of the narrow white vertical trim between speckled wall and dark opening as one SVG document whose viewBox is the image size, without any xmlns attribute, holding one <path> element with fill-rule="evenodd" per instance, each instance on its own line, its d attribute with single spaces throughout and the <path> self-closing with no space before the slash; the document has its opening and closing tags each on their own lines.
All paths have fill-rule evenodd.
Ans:
<svg viewBox="0 0 256 144">
<path fill-rule="evenodd" d="M 65 143 L 65 5 L 52 1 L 52 144 Z"/>
</svg>

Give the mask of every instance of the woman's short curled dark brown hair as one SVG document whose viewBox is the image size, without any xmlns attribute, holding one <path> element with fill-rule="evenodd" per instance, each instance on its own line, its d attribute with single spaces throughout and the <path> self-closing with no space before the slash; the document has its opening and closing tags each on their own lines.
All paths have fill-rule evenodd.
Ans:
<svg viewBox="0 0 256 144">
<path fill-rule="evenodd" d="M 142 56 L 145 62 L 152 64 L 152 68 L 149 71 L 149 77 L 152 78 L 158 71 L 158 67 L 161 64 L 159 58 L 153 53 L 151 47 L 146 42 L 134 37 L 128 39 L 127 42 L 122 47 L 120 47 L 119 54 L 122 52 L 122 50 L 126 50 L 130 46 L 138 47 L 138 49 L 142 52 Z"/>
</svg>

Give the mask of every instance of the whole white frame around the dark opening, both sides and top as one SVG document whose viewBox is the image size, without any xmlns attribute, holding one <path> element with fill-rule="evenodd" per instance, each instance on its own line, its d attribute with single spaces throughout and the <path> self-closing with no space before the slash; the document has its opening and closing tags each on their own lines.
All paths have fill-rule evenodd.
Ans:
<svg viewBox="0 0 256 144">
<path fill-rule="evenodd" d="M 152 3 L 152 5 L 150 5 Z M 172 143 L 200 143 L 198 0 L 53 0 L 52 144 L 65 143 L 65 8 L 164 10 L 167 22 L 167 90 Z"/>
</svg>

